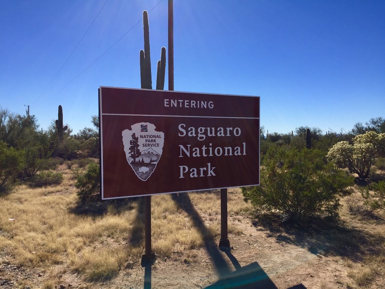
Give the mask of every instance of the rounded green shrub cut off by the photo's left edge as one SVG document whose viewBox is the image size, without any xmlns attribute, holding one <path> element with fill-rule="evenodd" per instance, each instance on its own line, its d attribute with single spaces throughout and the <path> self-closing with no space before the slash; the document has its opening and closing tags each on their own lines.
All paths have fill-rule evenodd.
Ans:
<svg viewBox="0 0 385 289">
<path fill-rule="evenodd" d="M 0 191 L 23 169 L 22 153 L 0 141 Z"/>
</svg>

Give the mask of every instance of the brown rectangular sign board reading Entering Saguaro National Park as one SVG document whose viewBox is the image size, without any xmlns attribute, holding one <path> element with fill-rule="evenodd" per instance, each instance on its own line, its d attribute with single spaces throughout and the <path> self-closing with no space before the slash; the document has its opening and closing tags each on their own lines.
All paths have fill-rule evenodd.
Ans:
<svg viewBox="0 0 385 289">
<path fill-rule="evenodd" d="M 100 87 L 102 199 L 259 185 L 259 97 Z"/>
</svg>

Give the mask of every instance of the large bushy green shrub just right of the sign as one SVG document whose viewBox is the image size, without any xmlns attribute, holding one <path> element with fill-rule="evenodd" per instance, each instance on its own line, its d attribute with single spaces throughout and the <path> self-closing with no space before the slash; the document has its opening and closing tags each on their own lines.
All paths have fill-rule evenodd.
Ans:
<svg viewBox="0 0 385 289">
<path fill-rule="evenodd" d="M 325 164 L 323 157 L 318 150 L 270 149 L 261 165 L 260 185 L 242 188 L 244 200 L 262 213 L 281 213 L 292 220 L 336 217 L 353 177 Z"/>
</svg>

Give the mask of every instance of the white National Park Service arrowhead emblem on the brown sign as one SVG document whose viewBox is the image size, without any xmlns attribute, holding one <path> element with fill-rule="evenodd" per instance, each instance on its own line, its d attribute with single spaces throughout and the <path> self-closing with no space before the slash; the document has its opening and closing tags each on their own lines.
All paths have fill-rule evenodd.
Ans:
<svg viewBox="0 0 385 289">
<path fill-rule="evenodd" d="M 136 123 L 122 131 L 126 159 L 142 181 L 151 176 L 162 155 L 164 133 L 155 129 L 151 123 Z"/>
</svg>

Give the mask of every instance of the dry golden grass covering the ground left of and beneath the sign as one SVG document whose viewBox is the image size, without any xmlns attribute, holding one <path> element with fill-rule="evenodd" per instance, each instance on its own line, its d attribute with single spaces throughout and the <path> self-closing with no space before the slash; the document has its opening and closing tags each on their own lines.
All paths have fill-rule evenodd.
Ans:
<svg viewBox="0 0 385 289">
<path fill-rule="evenodd" d="M 60 185 L 34 189 L 20 185 L 0 199 L 0 247 L 12 255 L 13 263 L 48 271 L 60 264 L 85 280 L 99 281 L 116 276 L 125 262 L 140 259 L 144 253 L 143 202 L 103 204 L 99 214 L 79 214 L 71 170 L 61 165 L 57 171 L 64 175 Z M 250 209 L 239 189 L 229 190 L 228 209 L 229 215 Z M 203 220 L 202 213 L 209 220 Z M 152 196 L 153 250 L 166 257 L 218 238 L 220 223 L 210 216 L 219 214 L 219 191 Z M 229 232 L 242 234 L 231 222 Z M 193 261 L 194 256 L 187 254 L 186 262 Z M 52 287 L 53 280 L 44 287 Z"/>
</svg>

